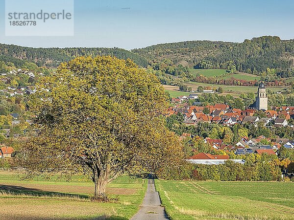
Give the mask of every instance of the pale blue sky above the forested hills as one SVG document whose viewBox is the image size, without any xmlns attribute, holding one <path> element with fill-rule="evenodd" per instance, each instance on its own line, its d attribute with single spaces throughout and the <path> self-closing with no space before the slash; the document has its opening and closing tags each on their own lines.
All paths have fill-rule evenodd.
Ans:
<svg viewBox="0 0 294 220">
<path fill-rule="evenodd" d="M 30 47 L 132 49 L 264 35 L 294 39 L 294 0 L 74 0 L 73 36 L 5 36 L 4 18 L 0 0 L 0 43 Z"/>
</svg>

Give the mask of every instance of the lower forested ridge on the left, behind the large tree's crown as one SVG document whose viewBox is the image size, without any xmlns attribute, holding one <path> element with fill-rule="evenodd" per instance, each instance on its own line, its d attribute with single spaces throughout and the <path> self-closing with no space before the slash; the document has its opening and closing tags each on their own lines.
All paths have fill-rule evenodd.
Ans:
<svg viewBox="0 0 294 220">
<path fill-rule="evenodd" d="M 17 45 L 0 44 L 0 61 L 12 62 L 22 66 L 25 62 L 34 62 L 38 66 L 57 67 L 77 56 L 111 55 L 120 59 L 130 58 L 138 66 L 147 66 L 147 60 L 140 55 L 121 48 L 32 48 Z"/>
</svg>

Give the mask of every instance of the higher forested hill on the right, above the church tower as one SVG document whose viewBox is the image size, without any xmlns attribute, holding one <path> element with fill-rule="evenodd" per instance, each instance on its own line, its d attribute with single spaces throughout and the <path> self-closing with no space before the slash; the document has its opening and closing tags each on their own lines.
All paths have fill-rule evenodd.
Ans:
<svg viewBox="0 0 294 220">
<path fill-rule="evenodd" d="M 173 64 L 202 68 L 228 68 L 230 64 L 239 71 L 262 72 L 270 68 L 287 70 L 294 66 L 294 40 L 263 36 L 243 43 L 187 41 L 157 44 L 133 49 L 153 66 L 166 59 Z"/>
</svg>

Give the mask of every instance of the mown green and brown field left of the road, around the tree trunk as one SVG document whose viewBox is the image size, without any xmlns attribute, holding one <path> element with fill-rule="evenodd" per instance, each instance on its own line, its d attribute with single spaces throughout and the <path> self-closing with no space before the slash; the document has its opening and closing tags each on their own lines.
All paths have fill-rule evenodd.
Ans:
<svg viewBox="0 0 294 220">
<path fill-rule="evenodd" d="M 140 208 L 147 181 L 121 176 L 107 185 L 116 202 L 94 202 L 94 184 L 82 176 L 19 181 L 15 173 L 0 172 L 0 219 L 130 219 Z M 7 208 L 9 207 L 9 208 Z"/>
</svg>

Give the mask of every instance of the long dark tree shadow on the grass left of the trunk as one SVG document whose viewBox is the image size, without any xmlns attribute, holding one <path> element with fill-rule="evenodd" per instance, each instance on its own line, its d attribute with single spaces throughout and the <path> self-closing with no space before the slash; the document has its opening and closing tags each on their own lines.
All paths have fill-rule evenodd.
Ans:
<svg viewBox="0 0 294 220">
<path fill-rule="evenodd" d="M 35 188 L 27 188 L 14 185 L 2 185 L 0 184 L 0 191 L 13 195 L 27 195 L 27 196 L 57 196 L 57 197 L 77 197 L 77 198 L 89 198 L 85 195 L 71 194 L 71 193 L 58 193 L 43 191 Z"/>
</svg>

